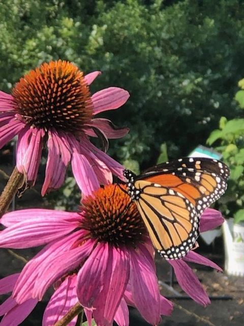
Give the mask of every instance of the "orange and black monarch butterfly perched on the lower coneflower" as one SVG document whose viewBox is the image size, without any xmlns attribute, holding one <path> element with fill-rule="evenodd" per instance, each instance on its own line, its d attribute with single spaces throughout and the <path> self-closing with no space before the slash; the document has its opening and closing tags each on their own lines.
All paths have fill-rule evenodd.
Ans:
<svg viewBox="0 0 244 326">
<path fill-rule="evenodd" d="M 194 247 L 203 210 L 224 194 L 229 169 L 216 159 L 186 157 L 124 176 L 155 248 L 180 259 Z"/>
</svg>

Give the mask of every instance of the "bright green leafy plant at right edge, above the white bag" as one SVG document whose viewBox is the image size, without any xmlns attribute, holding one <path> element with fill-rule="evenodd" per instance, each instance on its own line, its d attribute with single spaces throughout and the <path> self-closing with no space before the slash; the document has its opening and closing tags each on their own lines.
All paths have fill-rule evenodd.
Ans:
<svg viewBox="0 0 244 326">
<path fill-rule="evenodd" d="M 223 154 L 223 160 L 230 168 L 227 193 L 218 203 L 226 217 L 234 222 L 244 221 L 244 79 L 238 83 L 241 88 L 236 95 L 239 118 L 227 120 L 221 117 L 219 129 L 211 132 L 207 144 L 219 143 L 216 149 Z"/>
</svg>

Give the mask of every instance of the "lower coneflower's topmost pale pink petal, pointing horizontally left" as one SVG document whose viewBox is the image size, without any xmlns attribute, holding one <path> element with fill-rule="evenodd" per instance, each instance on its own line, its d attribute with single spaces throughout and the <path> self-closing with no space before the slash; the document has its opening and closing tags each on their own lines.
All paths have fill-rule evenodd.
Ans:
<svg viewBox="0 0 244 326">
<path fill-rule="evenodd" d="M 35 222 L 35 218 L 40 218 L 43 220 L 48 218 L 53 219 L 53 221 L 55 221 L 56 219 L 63 221 L 81 221 L 82 214 L 75 212 L 66 212 L 63 210 L 42 208 L 20 209 L 4 214 L 1 219 L 1 223 L 6 227 L 10 227 L 14 226 L 16 223 L 23 222 L 29 219 L 33 219 L 33 222 Z"/>
</svg>

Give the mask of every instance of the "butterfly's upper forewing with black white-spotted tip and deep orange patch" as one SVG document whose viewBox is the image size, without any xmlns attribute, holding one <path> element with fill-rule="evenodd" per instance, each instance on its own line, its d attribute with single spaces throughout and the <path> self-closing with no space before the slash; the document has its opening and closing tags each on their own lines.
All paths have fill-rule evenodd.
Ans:
<svg viewBox="0 0 244 326">
<path fill-rule="evenodd" d="M 137 179 L 160 184 L 185 196 L 201 214 L 227 188 L 228 167 L 209 158 L 185 157 L 145 170 Z"/>
</svg>

